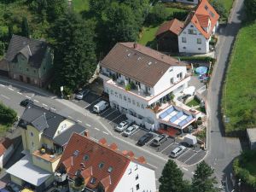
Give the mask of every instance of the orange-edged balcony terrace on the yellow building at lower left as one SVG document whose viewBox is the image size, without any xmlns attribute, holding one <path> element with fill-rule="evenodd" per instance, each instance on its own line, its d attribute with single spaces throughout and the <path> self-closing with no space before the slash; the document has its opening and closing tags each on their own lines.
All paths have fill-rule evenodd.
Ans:
<svg viewBox="0 0 256 192">
<path fill-rule="evenodd" d="M 36 150 L 33 152 L 33 155 L 51 163 L 55 162 L 55 160 L 61 159 L 60 153 L 53 153 L 52 150 L 49 150 L 47 148 L 41 148 L 39 150 Z"/>
</svg>

